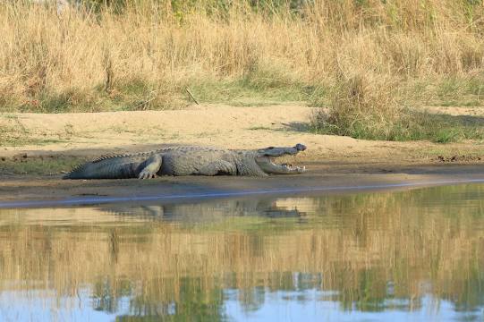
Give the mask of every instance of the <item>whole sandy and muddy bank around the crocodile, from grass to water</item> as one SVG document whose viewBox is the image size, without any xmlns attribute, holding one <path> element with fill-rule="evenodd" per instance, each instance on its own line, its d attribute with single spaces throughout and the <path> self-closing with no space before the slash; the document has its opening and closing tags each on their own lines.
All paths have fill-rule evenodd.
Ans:
<svg viewBox="0 0 484 322">
<path fill-rule="evenodd" d="M 329 191 L 484 179 L 482 142 L 354 140 L 307 131 L 306 106 L 195 106 L 98 114 L 2 114 L 0 200 L 120 198 L 243 191 Z M 10 143 L 9 143 L 10 142 Z M 309 171 L 268 178 L 165 177 L 140 182 L 62 181 L 61 172 L 105 153 L 165 145 L 261 148 L 304 143 Z M 68 162 L 67 162 L 67 161 Z M 61 162 L 62 161 L 62 162 Z M 65 161 L 65 162 L 64 162 Z M 288 192 L 289 193 L 289 192 Z"/>
</svg>

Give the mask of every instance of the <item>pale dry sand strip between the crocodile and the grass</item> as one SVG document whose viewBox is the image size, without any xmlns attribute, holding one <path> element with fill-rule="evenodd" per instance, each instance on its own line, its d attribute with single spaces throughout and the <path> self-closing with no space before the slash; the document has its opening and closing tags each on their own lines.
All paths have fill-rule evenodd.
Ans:
<svg viewBox="0 0 484 322">
<path fill-rule="evenodd" d="M 303 131 L 313 108 L 307 106 L 192 106 L 184 110 L 80 114 L 4 114 L 0 126 L 16 127 L 41 144 L 4 148 L 1 155 L 93 154 L 156 148 L 166 144 L 260 148 L 302 142 L 312 154 L 373 154 L 415 147 L 415 143 L 354 140 Z M 92 153 L 89 153 L 90 150 Z M 81 152 L 79 152 L 81 151 Z"/>
</svg>

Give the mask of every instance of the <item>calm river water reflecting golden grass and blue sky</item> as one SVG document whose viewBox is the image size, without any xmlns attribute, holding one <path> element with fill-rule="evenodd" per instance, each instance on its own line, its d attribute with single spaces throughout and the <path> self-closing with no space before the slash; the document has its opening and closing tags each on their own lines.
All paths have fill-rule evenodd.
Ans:
<svg viewBox="0 0 484 322">
<path fill-rule="evenodd" d="M 484 185 L 0 209 L 0 320 L 484 320 Z"/>
</svg>

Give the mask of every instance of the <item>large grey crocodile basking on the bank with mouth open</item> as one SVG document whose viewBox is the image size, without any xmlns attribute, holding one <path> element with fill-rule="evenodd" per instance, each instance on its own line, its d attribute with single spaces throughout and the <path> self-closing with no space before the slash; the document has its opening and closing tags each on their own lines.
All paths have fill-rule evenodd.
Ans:
<svg viewBox="0 0 484 322">
<path fill-rule="evenodd" d="M 273 157 L 304 151 L 301 143 L 292 148 L 251 150 L 205 147 L 171 147 L 149 152 L 103 156 L 75 167 L 64 179 L 149 179 L 158 175 L 250 175 L 301 174 L 304 166 L 277 165 Z"/>
</svg>

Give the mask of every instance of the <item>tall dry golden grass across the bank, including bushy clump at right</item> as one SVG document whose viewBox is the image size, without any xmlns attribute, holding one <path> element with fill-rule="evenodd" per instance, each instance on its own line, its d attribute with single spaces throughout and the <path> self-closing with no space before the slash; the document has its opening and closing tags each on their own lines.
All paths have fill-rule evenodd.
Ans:
<svg viewBox="0 0 484 322">
<path fill-rule="evenodd" d="M 428 128 L 421 107 L 481 105 L 483 33 L 475 0 L 4 2 L 0 110 L 176 108 L 190 88 L 202 102 L 327 107 L 313 122 L 326 133 L 480 139 L 476 122 Z"/>
</svg>

